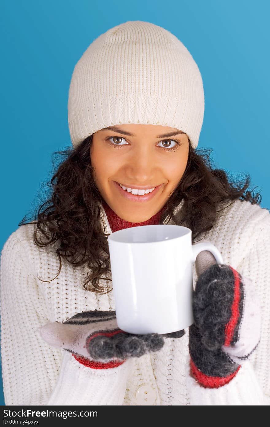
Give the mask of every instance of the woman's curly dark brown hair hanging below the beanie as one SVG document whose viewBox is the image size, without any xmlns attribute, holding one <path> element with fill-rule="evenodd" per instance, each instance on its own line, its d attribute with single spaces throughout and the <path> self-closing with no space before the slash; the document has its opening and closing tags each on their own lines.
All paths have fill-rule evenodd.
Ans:
<svg viewBox="0 0 270 427">
<path fill-rule="evenodd" d="M 56 171 L 54 169 L 52 178 L 46 184 L 51 187 L 49 199 L 37 209 L 34 221 L 26 222 L 24 216 L 18 225 L 37 225 L 33 235 L 37 246 L 52 245 L 59 239 L 60 244 L 57 245 L 59 247 L 56 253 L 60 265 L 56 277 L 61 271 L 61 257 L 73 266 L 86 264 L 84 289 L 107 293 L 112 289 L 107 290 L 99 285 L 99 279 L 106 281 L 112 279 L 110 279 L 108 234 L 105 234 L 105 228 L 102 227 L 105 224 L 102 224 L 100 207 L 97 203 L 103 199 L 94 182 L 94 168 L 91 166 L 92 140 L 93 135 L 90 135 L 76 147 L 68 147 L 64 151 L 53 153 L 64 155 L 66 159 L 58 165 Z M 201 237 L 203 239 L 206 232 L 215 225 L 218 217 L 222 216 L 223 203 L 233 202 L 236 199 L 246 200 L 251 204 L 261 203 L 259 193 L 253 197 L 250 191 L 246 191 L 250 185 L 250 175 L 247 174 L 244 184 L 229 182 L 224 170 L 212 168 L 209 158 L 211 151 L 212 149 L 193 149 L 189 140 L 186 170 L 167 200 L 160 217 L 160 224 L 167 224 L 172 219 L 176 225 L 190 228 L 192 244 L 204 233 Z M 183 199 L 180 215 L 174 215 L 174 208 Z M 38 230 L 45 241 L 38 239 Z M 103 274 L 105 277 L 102 277 Z"/>
</svg>

